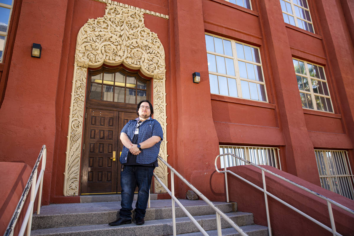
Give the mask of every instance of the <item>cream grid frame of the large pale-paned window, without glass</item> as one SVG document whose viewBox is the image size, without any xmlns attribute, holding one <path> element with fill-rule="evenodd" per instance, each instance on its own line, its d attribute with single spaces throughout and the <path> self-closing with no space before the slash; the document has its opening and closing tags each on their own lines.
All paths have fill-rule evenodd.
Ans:
<svg viewBox="0 0 354 236">
<path fill-rule="evenodd" d="M 228 39 L 228 38 L 225 38 L 225 37 L 222 37 L 222 36 L 218 36 L 218 35 L 214 35 L 214 34 L 210 34 L 210 33 L 206 33 L 206 32 L 205 32 L 205 35 L 209 35 L 209 36 L 212 36 L 212 37 L 216 37 L 216 38 L 219 38 L 219 39 L 222 39 L 222 40 L 227 40 L 227 41 L 231 42 L 233 56 L 229 56 L 229 55 L 226 55 L 226 54 L 220 54 L 220 53 L 217 53 L 217 52 L 211 52 L 211 51 L 206 51 L 206 54 L 209 53 L 209 54 L 212 54 L 212 55 L 215 55 L 215 56 L 220 56 L 220 57 L 223 57 L 223 58 L 232 59 L 233 63 L 234 63 L 235 76 L 228 75 L 228 74 L 222 74 L 222 73 L 218 73 L 218 72 L 214 72 L 214 71 L 209 71 L 209 69 L 208 69 L 208 72 L 209 72 L 208 74 L 212 74 L 212 75 L 216 75 L 216 76 L 223 76 L 223 77 L 227 77 L 227 78 L 230 78 L 230 79 L 235 79 L 236 80 L 236 88 L 237 88 L 237 97 L 231 96 L 231 95 L 220 94 L 220 91 L 219 91 L 219 93 L 212 93 L 210 91 L 210 93 L 211 94 L 221 95 L 221 96 L 234 97 L 234 98 L 247 99 L 247 100 L 252 100 L 252 101 L 257 101 L 257 102 L 269 103 L 268 94 L 267 94 L 267 85 L 266 85 L 266 82 L 265 82 L 264 71 L 263 71 L 261 49 L 259 47 L 257 47 L 257 46 L 253 46 L 253 45 L 246 44 L 246 43 L 243 43 L 243 42 L 240 42 L 240 41 Z M 236 43 L 237 44 L 241 44 L 241 45 L 245 45 L 245 46 L 249 46 L 251 48 L 256 48 L 258 50 L 258 54 L 259 54 L 259 63 L 253 62 L 253 61 L 248 61 L 248 60 L 242 59 L 242 58 L 238 58 L 237 51 L 236 51 Z M 241 78 L 240 77 L 240 70 L 239 70 L 238 61 L 242 61 L 242 62 L 245 62 L 245 63 L 247 62 L 247 63 L 253 64 L 253 65 L 260 66 L 261 67 L 261 71 L 262 71 L 263 82 L 262 81 L 258 81 L 258 80 L 252 80 L 252 79 L 248 79 L 248 78 L 243 78 L 243 77 Z M 209 67 L 209 63 L 208 63 L 208 67 Z M 209 76 L 209 81 L 210 81 L 210 76 Z M 250 95 L 250 98 L 243 97 L 242 96 L 241 81 L 247 81 L 247 82 L 252 82 L 252 83 L 255 83 L 255 84 L 263 85 L 264 86 L 265 101 L 259 100 L 259 93 L 258 93 L 258 100 L 252 99 L 251 95 Z M 228 94 L 230 94 L 229 86 L 228 86 L 228 80 L 227 80 L 227 87 L 228 87 Z M 219 90 L 219 80 L 218 80 L 218 90 Z M 257 92 L 258 92 L 258 87 L 257 87 Z"/>
</svg>

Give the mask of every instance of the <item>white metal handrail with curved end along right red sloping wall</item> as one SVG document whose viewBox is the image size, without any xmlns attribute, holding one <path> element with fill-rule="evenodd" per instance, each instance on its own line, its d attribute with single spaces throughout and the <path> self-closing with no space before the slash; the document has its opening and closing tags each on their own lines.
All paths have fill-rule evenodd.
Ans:
<svg viewBox="0 0 354 236">
<path fill-rule="evenodd" d="M 219 171 L 219 169 L 217 168 L 217 159 L 218 159 L 219 157 L 221 157 L 221 156 L 227 156 L 227 155 L 232 155 L 232 156 L 238 158 L 238 159 L 241 160 L 241 161 L 244 161 L 244 162 L 246 162 L 246 163 L 248 163 L 248 164 L 250 164 L 250 165 L 252 165 L 252 166 L 257 167 L 258 169 L 261 169 L 261 170 L 262 170 L 263 189 L 260 188 L 259 186 L 255 185 L 255 184 L 251 183 L 250 181 L 246 180 L 245 178 L 242 178 L 240 175 L 237 175 L 237 174 L 235 174 L 235 173 L 232 172 L 232 171 L 228 171 L 228 170 L 227 170 L 227 167 L 226 167 L 225 157 L 223 158 L 223 159 L 224 159 L 224 160 L 223 160 L 223 161 L 224 161 L 224 171 Z M 287 179 L 287 178 L 284 178 L 284 177 L 282 177 L 282 176 L 280 176 L 280 175 L 278 175 L 278 174 L 275 174 L 275 173 L 273 173 L 272 171 L 269 171 L 269 170 L 267 170 L 267 169 L 265 169 L 265 168 L 263 168 L 263 167 L 260 167 L 260 166 L 254 164 L 254 163 L 252 163 L 252 162 L 250 162 L 250 161 L 247 161 L 247 160 L 245 160 L 245 159 L 243 159 L 243 158 L 241 158 L 241 157 L 239 157 L 239 156 L 235 156 L 235 155 L 232 154 L 232 153 L 225 153 L 225 154 L 220 154 L 220 155 L 216 156 L 216 158 L 215 158 L 215 169 L 216 169 L 216 171 L 217 171 L 218 173 L 225 173 L 225 185 L 226 185 L 226 195 L 227 195 L 226 197 L 227 197 L 227 202 L 229 202 L 229 190 L 228 190 L 228 183 L 227 183 L 227 173 L 230 173 L 230 174 L 232 174 L 232 175 L 238 177 L 239 179 L 243 180 L 244 182 L 246 182 L 246 183 L 252 185 L 253 187 L 257 188 L 258 190 L 261 190 L 262 192 L 264 192 L 265 209 L 266 209 L 266 212 L 267 212 L 267 221 L 268 221 L 268 232 L 269 232 L 269 236 L 272 236 L 272 230 L 270 229 L 270 218 L 269 218 L 269 208 L 268 208 L 267 195 L 270 196 L 270 197 L 272 197 L 272 198 L 274 198 L 275 200 L 281 202 L 281 203 L 284 204 L 285 206 L 287 206 L 287 207 L 289 207 L 290 209 L 296 211 L 297 213 L 301 214 L 302 216 L 306 217 L 307 219 L 313 221 L 314 223 L 318 224 L 318 225 L 321 226 L 322 228 L 324 228 L 324 229 L 326 229 L 326 230 L 332 232 L 332 233 L 333 233 L 333 236 L 335 236 L 335 235 L 337 235 L 337 236 L 343 236 L 343 235 L 339 234 L 339 233 L 336 231 L 336 226 L 335 226 L 335 222 L 334 222 L 334 218 L 333 218 L 333 213 L 332 213 L 332 206 L 331 206 L 331 204 L 336 205 L 337 207 L 339 207 L 339 208 L 341 208 L 341 209 L 343 209 L 343 210 L 345 210 L 345 211 L 347 211 L 347 212 L 349 212 L 349 213 L 351 213 L 351 214 L 354 215 L 354 211 L 353 211 L 352 209 L 349 209 L 348 207 L 345 207 L 345 206 L 339 204 L 338 202 L 333 201 L 332 199 L 330 199 L 330 198 L 328 198 L 328 197 L 322 196 L 322 195 L 320 195 L 319 193 L 317 193 L 317 192 L 315 192 L 315 191 L 312 191 L 312 190 L 310 190 L 310 189 L 308 189 L 308 188 L 306 188 L 306 187 L 304 187 L 304 186 L 302 186 L 302 185 L 299 185 L 299 184 L 297 184 L 297 183 L 295 183 L 295 182 L 292 182 L 291 180 L 289 180 L 289 179 Z M 331 227 L 332 227 L 332 228 L 329 228 L 328 226 L 322 224 L 320 221 L 318 221 L 318 220 L 316 220 L 316 219 L 310 217 L 308 214 L 306 214 L 306 213 L 300 211 L 299 209 L 297 209 L 297 208 L 291 206 L 289 203 L 287 203 L 287 202 L 281 200 L 280 198 L 278 198 L 278 197 L 274 196 L 273 194 L 271 194 L 270 192 L 268 192 L 267 189 L 266 189 L 266 186 L 265 186 L 264 172 L 267 172 L 267 173 L 269 173 L 269 174 L 271 174 L 271 175 L 273 175 L 273 176 L 275 176 L 275 177 L 277 177 L 277 178 L 279 178 L 279 179 L 282 179 L 282 180 L 286 181 L 287 183 L 290 183 L 290 184 L 292 184 L 292 185 L 294 185 L 294 186 L 296 186 L 296 187 L 298 187 L 298 188 L 300 188 L 300 189 L 302 189 L 302 190 L 305 190 L 305 191 L 309 192 L 310 194 L 313 194 L 313 195 L 316 196 L 316 197 L 319 197 L 319 198 L 322 198 L 323 200 L 326 200 L 326 201 L 327 201 L 327 208 L 328 208 L 328 212 L 329 212 L 329 217 L 330 217 Z"/>
</svg>

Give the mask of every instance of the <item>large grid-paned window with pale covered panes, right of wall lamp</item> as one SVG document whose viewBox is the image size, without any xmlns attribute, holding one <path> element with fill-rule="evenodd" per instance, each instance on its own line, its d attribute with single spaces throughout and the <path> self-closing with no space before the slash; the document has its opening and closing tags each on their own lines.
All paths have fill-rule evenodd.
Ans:
<svg viewBox="0 0 354 236">
<path fill-rule="evenodd" d="M 267 102 L 259 48 L 205 34 L 210 92 Z"/>
</svg>

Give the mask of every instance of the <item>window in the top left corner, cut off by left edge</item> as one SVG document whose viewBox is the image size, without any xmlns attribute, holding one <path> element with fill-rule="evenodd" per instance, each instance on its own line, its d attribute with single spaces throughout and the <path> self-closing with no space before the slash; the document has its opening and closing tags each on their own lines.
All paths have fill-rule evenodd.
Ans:
<svg viewBox="0 0 354 236">
<path fill-rule="evenodd" d="M 0 63 L 4 54 L 13 0 L 0 0 Z"/>
</svg>

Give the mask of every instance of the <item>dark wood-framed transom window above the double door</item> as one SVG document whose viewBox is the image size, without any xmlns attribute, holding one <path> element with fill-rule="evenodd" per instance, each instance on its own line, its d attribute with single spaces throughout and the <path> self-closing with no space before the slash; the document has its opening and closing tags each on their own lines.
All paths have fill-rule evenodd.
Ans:
<svg viewBox="0 0 354 236">
<path fill-rule="evenodd" d="M 137 104 L 147 99 L 148 81 L 124 70 L 90 73 L 89 99 Z"/>
</svg>

